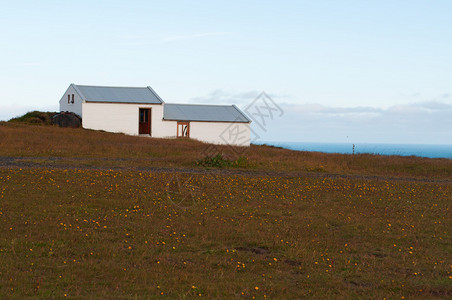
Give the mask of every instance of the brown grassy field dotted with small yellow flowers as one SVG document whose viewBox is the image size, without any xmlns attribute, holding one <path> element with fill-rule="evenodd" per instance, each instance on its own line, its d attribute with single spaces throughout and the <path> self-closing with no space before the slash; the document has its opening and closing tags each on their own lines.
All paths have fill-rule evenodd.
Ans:
<svg viewBox="0 0 452 300">
<path fill-rule="evenodd" d="M 452 297 L 451 160 L 206 147 L 1 124 L 0 298 Z"/>
</svg>

